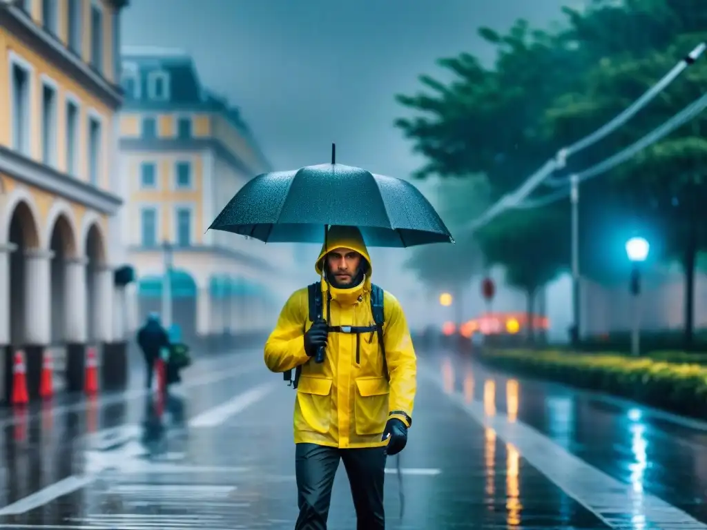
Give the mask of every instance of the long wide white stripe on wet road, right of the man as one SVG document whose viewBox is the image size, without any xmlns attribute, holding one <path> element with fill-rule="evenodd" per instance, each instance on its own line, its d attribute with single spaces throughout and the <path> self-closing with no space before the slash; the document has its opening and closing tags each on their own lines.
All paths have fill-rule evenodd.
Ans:
<svg viewBox="0 0 707 530">
<path fill-rule="evenodd" d="M 422 377 L 444 391 L 442 382 L 434 376 L 428 374 Z M 625 528 L 626 518 L 617 517 L 623 514 L 631 517 L 636 527 L 652 523 L 662 530 L 707 530 L 707 524 L 645 493 L 643 488 L 617 481 L 590 466 L 530 425 L 518 420 L 510 421 L 506 414 L 498 411 L 495 416 L 486 416 L 484 404 L 480 401 L 467 404 L 460 394 L 446 395 L 479 424 L 496 431 L 504 442 L 513 444 L 535 469 L 609 527 Z"/>
</svg>

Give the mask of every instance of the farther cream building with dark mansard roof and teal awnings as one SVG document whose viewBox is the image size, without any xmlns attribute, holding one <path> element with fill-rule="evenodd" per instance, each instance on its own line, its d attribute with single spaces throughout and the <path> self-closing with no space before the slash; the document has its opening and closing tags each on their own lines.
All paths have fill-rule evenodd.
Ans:
<svg viewBox="0 0 707 530">
<path fill-rule="evenodd" d="M 185 52 L 123 49 L 122 86 L 125 233 L 139 276 L 132 326 L 158 311 L 187 341 L 262 334 L 293 288 L 292 245 L 206 230 L 248 179 L 271 169 L 257 141 Z M 163 306 L 165 257 L 171 303 Z"/>
</svg>

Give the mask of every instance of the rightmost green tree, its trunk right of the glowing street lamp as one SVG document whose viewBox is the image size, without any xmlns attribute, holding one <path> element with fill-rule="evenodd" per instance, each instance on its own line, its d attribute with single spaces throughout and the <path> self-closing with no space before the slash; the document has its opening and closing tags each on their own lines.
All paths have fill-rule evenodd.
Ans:
<svg viewBox="0 0 707 530">
<path fill-rule="evenodd" d="M 664 2 L 657 4 L 666 8 Z M 668 20 L 670 24 L 666 25 L 674 27 L 675 18 Z M 655 34 L 654 48 L 658 48 L 663 42 L 662 34 Z M 551 136 L 576 139 L 594 130 L 653 86 L 706 38 L 707 33 L 684 33 L 673 37 L 670 45 L 660 51 L 650 49 L 644 42 L 643 51 L 637 57 L 621 54 L 603 59 L 588 72 L 585 90 L 563 95 L 548 110 L 547 124 Z M 583 153 L 579 157 L 580 163 L 590 165 L 638 140 L 699 98 L 705 83 L 707 68 L 701 64 L 692 66 L 602 146 Z M 707 234 L 701 228 L 707 222 L 707 211 L 701 208 L 707 199 L 704 182 L 707 175 L 703 170 L 707 160 L 707 141 L 703 139 L 706 124 L 707 117 L 696 117 L 614 168 L 606 179 L 592 182 L 587 190 L 595 199 L 602 193 L 607 194 L 607 190 L 612 196 L 619 197 L 625 210 L 633 216 L 634 223 L 643 225 L 644 230 L 652 228 L 660 235 L 661 257 L 681 261 L 685 273 L 686 348 L 692 346 L 694 336 L 696 259 L 701 249 L 707 249 Z"/>
</svg>

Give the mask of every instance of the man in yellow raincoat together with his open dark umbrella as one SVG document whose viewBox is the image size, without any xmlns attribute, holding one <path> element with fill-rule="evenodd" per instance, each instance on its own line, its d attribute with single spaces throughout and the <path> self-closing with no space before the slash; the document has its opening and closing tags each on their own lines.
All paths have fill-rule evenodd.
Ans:
<svg viewBox="0 0 707 530">
<path fill-rule="evenodd" d="M 250 179 L 209 229 L 266 243 L 319 243 L 321 281 L 296 291 L 265 346 L 265 363 L 297 389 L 294 428 L 297 530 L 327 528 L 339 460 L 349 475 L 359 530 L 385 528 L 386 454 L 407 444 L 416 357 L 399 303 L 370 282 L 369 247 L 454 239 L 419 189 L 404 179 L 336 163 Z M 295 377 L 292 379 L 292 370 Z"/>
</svg>

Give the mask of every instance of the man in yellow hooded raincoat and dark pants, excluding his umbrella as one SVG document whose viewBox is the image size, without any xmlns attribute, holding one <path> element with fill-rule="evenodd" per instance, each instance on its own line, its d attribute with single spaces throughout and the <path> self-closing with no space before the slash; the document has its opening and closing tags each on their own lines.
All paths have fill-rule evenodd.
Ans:
<svg viewBox="0 0 707 530">
<path fill-rule="evenodd" d="M 327 252 L 327 249 L 329 252 Z M 300 514 L 296 530 L 325 530 L 334 474 L 344 461 L 358 530 L 385 529 L 386 454 L 407 443 L 416 391 L 416 357 L 405 315 L 383 293 L 383 344 L 370 305 L 373 267 L 357 228 L 332 226 L 315 270 L 324 274 L 328 324 L 310 322 L 308 289 L 293 293 L 265 344 L 273 372 L 300 367 L 294 413 L 295 469 Z M 324 363 L 312 357 L 326 346 Z M 385 358 L 384 358 L 385 355 Z"/>
</svg>

